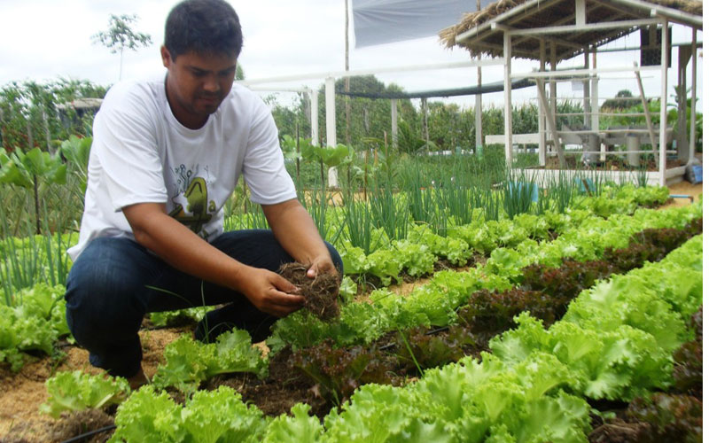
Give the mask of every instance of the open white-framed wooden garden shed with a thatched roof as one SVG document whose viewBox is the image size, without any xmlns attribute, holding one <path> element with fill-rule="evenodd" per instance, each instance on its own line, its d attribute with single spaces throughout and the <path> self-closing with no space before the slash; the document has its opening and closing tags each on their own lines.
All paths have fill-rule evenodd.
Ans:
<svg viewBox="0 0 709 443">
<path fill-rule="evenodd" d="M 678 99 L 680 118 L 685 115 L 682 107 L 687 105 L 686 93 L 682 94 L 686 90 L 686 67 L 690 59 L 692 62 L 690 140 L 687 141 L 686 136 L 685 140 L 682 140 L 681 135 L 677 140 L 678 152 L 682 159 L 682 157 L 693 157 L 696 143 L 697 30 L 702 29 L 701 2 L 696 0 L 500 0 L 487 5 L 480 12 L 466 14 L 459 24 L 441 31 L 440 38 L 448 47 L 460 46 L 467 49 L 471 57 L 484 55 L 503 58 L 504 145 L 509 164 L 511 164 L 513 144 L 511 84 L 513 79 L 528 78 L 534 80 L 538 87 L 540 109 L 538 144 L 541 165 L 544 165 L 547 159 L 548 135 L 551 136 L 551 144 L 557 152 L 560 167 L 565 166 L 563 155 L 565 142 L 573 143 L 573 140 L 582 140 L 585 146 L 586 144 L 593 146 L 603 143 L 605 139 L 617 140 L 619 134 L 628 138 L 631 136 L 638 138 L 639 135 L 641 140 L 647 139 L 652 144 L 653 151 L 656 146 L 658 147 L 658 183 L 664 185 L 667 178 L 666 145 L 669 137 L 672 136 L 672 131 L 667 129 L 666 122 L 667 70 L 671 55 L 670 24 L 679 24 L 692 29 L 691 44 L 681 46 L 678 50 L 681 86 Z M 600 46 L 634 33 L 638 29 L 643 29 L 650 35 L 650 42 L 635 50 L 658 51 L 658 65 L 604 66 L 603 68 L 596 66 L 596 51 Z M 583 67 L 557 71 L 558 62 L 580 55 L 584 57 Z M 593 66 L 590 64 L 591 56 L 594 59 Z M 513 73 L 511 70 L 513 57 L 538 60 L 539 70 L 531 73 Z M 651 115 L 644 99 L 640 77 L 641 72 L 649 70 L 659 71 L 661 77 L 659 128 L 654 128 L 651 124 Z M 598 76 L 618 72 L 635 73 L 643 97 L 646 128 L 626 128 L 625 131 L 619 129 L 617 133 L 600 130 Z M 583 82 L 586 128 L 557 130 L 556 83 L 562 81 Z M 547 84 L 549 84 L 549 97 L 546 94 Z M 681 124 L 682 120 L 678 122 L 678 126 Z M 639 146 L 638 143 L 632 145 Z M 627 146 L 631 144 L 628 143 Z M 682 152 L 683 146 L 687 146 L 689 152 Z M 633 153 L 630 149 L 632 148 L 628 149 L 628 155 Z M 679 174 L 681 175 L 682 172 Z"/>
</svg>

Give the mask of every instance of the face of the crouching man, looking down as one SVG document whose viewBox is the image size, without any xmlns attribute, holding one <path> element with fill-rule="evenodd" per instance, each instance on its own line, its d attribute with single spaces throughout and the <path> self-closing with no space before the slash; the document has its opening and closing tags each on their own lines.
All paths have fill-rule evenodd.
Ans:
<svg viewBox="0 0 709 443">
<path fill-rule="evenodd" d="M 165 46 L 160 48 L 160 55 L 168 68 L 166 90 L 175 118 L 187 128 L 201 128 L 229 94 L 237 58 L 196 52 L 172 58 Z"/>
</svg>

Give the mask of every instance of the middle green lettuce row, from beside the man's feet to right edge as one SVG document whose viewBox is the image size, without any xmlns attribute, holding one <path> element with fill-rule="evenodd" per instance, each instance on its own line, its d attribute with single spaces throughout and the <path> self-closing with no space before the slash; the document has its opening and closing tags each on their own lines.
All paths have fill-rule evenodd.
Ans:
<svg viewBox="0 0 709 443">
<path fill-rule="evenodd" d="M 487 260 L 469 270 L 443 270 L 406 296 L 383 288 L 370 293 L 370 302 L 347 303 L 339 319 L 323 322 L 315 315 L 299 312 L 279 320 L 267 339 L 272 354 L 291 347 L 308 348 L 328 340 L 333 346 L 370 344 L 387 332 L 416 327 L 448 326 L 459 320 L 459 308 L 476 291 L 508 290 L 524 279 L 526 267 L 536 264 L 559 267 L 565 260 L 597 260 L 608 248 L 627 247 L 631 237 L 643 229 L 684 229 L 701 216 L 701 206 L 683 206 L 664 211 L 638 210 L 633 216 L 608 219 L 589 214 L 575 229 L 553 241 L 529 241 L 516 248 L 499 248 Z M 681 285 L 682 280 L 669 284 Z M 677 289 L 679 291 L 679 289 Z M 666 337 L 674 337 L 669 334 Z M 663 338 L 667 339 L 667 338 Z M 247 337 L 223 336 L 215 345 L 202 346 L 188 336 L 166 349 L 166 363 L 158 369 L 154 383 L 194 392 L 200 382 L 219 373 L 249 371 L 263 374 L 265 364 L 258 353 L 237 354 L 230 349 L 247 350 Z M 229 341 L 228 341 L 229 340 Z M 238 340 L 241 346 L 234 346 Z M 226 346 L 229 344 L 229 346 Z M 236 369 L 236 370 L 235 370 Z"/>
</svg>

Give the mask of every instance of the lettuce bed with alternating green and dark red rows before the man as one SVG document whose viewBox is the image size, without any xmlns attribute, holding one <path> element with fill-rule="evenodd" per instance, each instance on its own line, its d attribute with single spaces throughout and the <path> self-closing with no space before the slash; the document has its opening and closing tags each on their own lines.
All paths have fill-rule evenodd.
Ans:
<svg viewBox="0 0 709 443">
<path fill-rule="evenodd" d="M 240 333 L 223 335 L 221 347 L 179 337 L 191 320 L 143 330 L 146 373 L 155 377 L 138 392 L 120 381 L 96 387 L 91 378 L 62 375 L 98 373 L 74 346 L 55 342 L 37 351 L 20 340 L 10 361 L 19 358 L 25 367 L 13 373 L 4 363 L 0 415 L 12 416 L 17 388 L 58 374 L 66 380 L 51 378 L 50 394 L 35 391 L 34 404 L 46 402 L 63 418 L 3 418 L 2 441 L 60 441 L 112 423 L 114 439 L 128 441 L 222 435 L 613 442 L 696 435 L 702 249 L 701 236 L 690 237 L 701 231 L 701 205 L 662 214 L 617 202 L 588 205 L 565 216 L 459 226 L 446 237 L 412 229 L 392 242 L 390 255 L 386 248 L 346 249 L 350 280 L 343 292 L 358 301 L 344 304 L 336 320 L 300 313 L 280 321 L 267 341 L 269 360 Z M 425 276 L 426 283 L 402 296 L 389 285 L 405 276 Z M 41 357 L 57 348 L 66 356 Z M 58 392 L 66 397 L 57 402 Z M 74 398 L 79 392 L 83 397 Z M 635 400 L 651 392 L 665 393 Z M 102 406 L 61 413 L 66 405 L 89 404 Z"/>
</svg>

